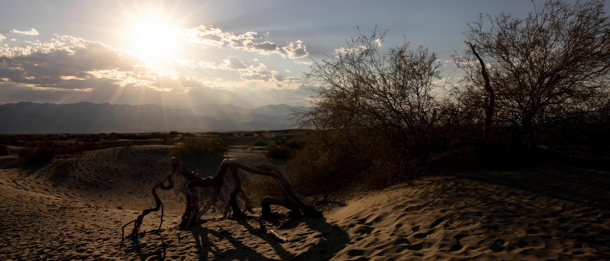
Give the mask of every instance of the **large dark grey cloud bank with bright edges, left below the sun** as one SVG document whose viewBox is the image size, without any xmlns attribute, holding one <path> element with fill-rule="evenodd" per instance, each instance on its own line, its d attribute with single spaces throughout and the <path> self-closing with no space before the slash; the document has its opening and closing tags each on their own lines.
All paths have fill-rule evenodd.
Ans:
<svg viewBox="0 0 610 261">
<path fill-rule="evenodd" d="M 3 79 L 0 85 L 39 91 L 135 88 L 170 93 L 213 86 L 196 77 L 148 65 L 121 49 L 82 38 L 64 35 L 30 44 L 25 48 L 0 46 L 0 79 Z"/>
</svg>

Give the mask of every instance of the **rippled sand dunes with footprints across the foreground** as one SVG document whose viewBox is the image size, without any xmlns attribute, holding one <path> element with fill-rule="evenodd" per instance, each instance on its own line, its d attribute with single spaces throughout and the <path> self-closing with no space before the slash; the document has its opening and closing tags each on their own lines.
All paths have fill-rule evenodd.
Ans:
<svg viewBox="0 0 610 261">
<path fill-rule="evenodd" d="M 281 228 L 281 209 L 274 220 L 257 218 L 260 209 L 237 219 L 218 210 L 201 226 L 176 231 L 184 199 L 175 188 L 160 193 L 164 230 L 151 232 L 159 226 L 152 213 L 145 234 L 120 246 L 121 226 L 154 205 L 150 187 L 170 170 L 170 148 L 102 149 L 27 167 L 0 157 L 0 260 L 610 259 L 610 179 L 592 166 L 437 173 L 364 195 L 331 195 L 321 206 L 325 219 L 291 219 Z M 228 156 L 278 163 L 257 151 Z M 185 162 L 209 175 L 222 159 Z M 270 229 L 289 241 L 279 243 Z"/>
</svg>

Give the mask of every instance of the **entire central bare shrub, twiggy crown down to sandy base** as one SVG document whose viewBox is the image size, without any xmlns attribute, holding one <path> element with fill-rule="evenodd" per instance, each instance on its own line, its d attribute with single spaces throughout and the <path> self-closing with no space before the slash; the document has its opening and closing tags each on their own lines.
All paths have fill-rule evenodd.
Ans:
<svg viewBox="0 0 610 261">
<path fill-rule="evenodd" d="M 381 53 L 385 33 L 353 39 L 314 62 L 306 84 L 312 109 L 296 110 L 302 129 L 315 129 L 290 162 L 301 190 L 334 190 L 346 182 L 384 187 L 420 172 L 443 144 L 445 102 L 434 52 L 409 43 Z"/>
</svg>

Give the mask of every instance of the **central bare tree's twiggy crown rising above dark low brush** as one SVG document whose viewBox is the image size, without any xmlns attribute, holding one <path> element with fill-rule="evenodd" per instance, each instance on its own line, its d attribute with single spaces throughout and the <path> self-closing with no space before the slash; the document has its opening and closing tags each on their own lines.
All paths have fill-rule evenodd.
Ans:
<svg viewBox="0 0 610 261">
<path fill-rule="evenodd" d="M 433 91 L 441 65 L 434 52 L 422 46 L 410 50 L 406 41 L 382 54 L 385 34 L 373 30 L 314 62 L 306 84 L 318 96 L 313 109 L 298 113 L 300 127 L 360 129 L 363 136 L 379 135 L 402 154 L 425 161 L 433 140 L 430 130 L 439 119 Z"/>
</svg>

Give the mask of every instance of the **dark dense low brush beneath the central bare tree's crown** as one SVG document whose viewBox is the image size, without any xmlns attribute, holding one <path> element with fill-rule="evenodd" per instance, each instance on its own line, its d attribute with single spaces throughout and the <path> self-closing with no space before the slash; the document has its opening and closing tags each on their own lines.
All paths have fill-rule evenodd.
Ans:
<svg viewBox="0 0 610 261">
<path fill-rule="evenodd" d="M 336 191 L 350 183 L 383 188 L 422 173 L 417 160 L 370 130 L 311 131 L 287 170 L 306 195 Z"/>
</svg>

